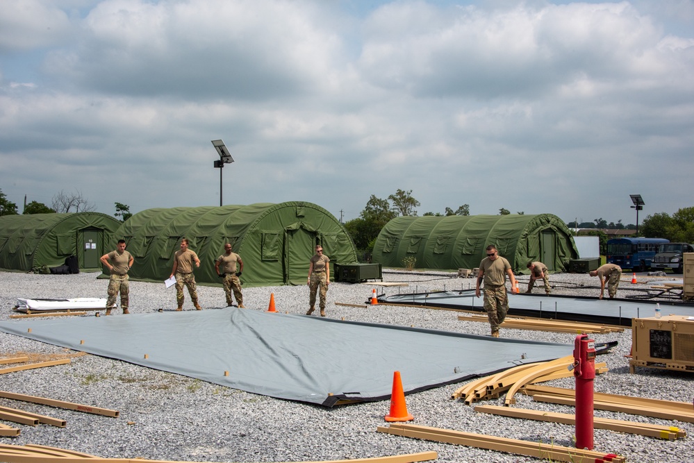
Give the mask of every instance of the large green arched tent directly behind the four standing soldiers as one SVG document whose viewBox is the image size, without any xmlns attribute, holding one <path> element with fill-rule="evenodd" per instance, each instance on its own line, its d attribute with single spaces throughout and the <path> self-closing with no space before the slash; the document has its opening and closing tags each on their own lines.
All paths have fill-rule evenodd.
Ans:
<svg viewBox="0 0 694 463">
<path fill-rule="evenodd" d="M 357 261 L 340 221 L 304 202 L 147 209 L 125 221 L 116 237 L 126 240 L 135 258 L 132 280 L 169 278 L 183 237 L 200 258 L 195 280 L 202 284 L 221 284 L 215 260 L 224 253 L 225 242 L 243 260 L 246 287 L 305 285 L 315 244 L 323 246 L 331 264 Z M 111 245 L 115 249 L 116 239 Z"/>
</svg>

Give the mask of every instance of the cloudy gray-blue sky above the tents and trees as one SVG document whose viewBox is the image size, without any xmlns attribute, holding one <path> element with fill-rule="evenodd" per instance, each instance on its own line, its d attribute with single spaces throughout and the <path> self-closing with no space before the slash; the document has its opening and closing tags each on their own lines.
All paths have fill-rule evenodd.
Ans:
<svg viewBox="0 0 694 463">
<path fill-rule="evenodd" d="M 0 190 L 636 222 L 694 206 L 694 0 L 0 0 Z"/>
</svg>

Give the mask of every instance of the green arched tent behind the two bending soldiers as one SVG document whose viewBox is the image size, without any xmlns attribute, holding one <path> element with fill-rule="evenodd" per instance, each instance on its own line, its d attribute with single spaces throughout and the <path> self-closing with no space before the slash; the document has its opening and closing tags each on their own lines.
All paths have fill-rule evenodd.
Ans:
<svg viewBox="0 0 694 463">
<path fill-rule="evenodd" d="M 418 269 L 474 269 L 490 244 L 509 260 L 514 273 L 529 273 L 529 260 L 563 271 L 578 257 L 570 230 L 555 215 L 453 215 L 389 221 L 374 244 L 373 262 L 406 267 L 403 260 L 412 257 Z"/>
</svg>

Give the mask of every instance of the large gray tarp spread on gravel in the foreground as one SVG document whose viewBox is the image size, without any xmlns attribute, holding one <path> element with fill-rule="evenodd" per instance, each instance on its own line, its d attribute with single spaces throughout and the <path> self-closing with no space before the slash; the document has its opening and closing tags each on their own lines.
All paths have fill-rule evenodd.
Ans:
<svg viewBox="0 0 694 463">
<path fill-rule="evenodd" d="M 255 394 L 327 406 L 341 399 L 390 398 L 394 371 L 400 371 L 408 393 L 572 353 L 567 344 L 238 308 L 22 319 L 1 322 L 0 330 Z"/>
</svg>

